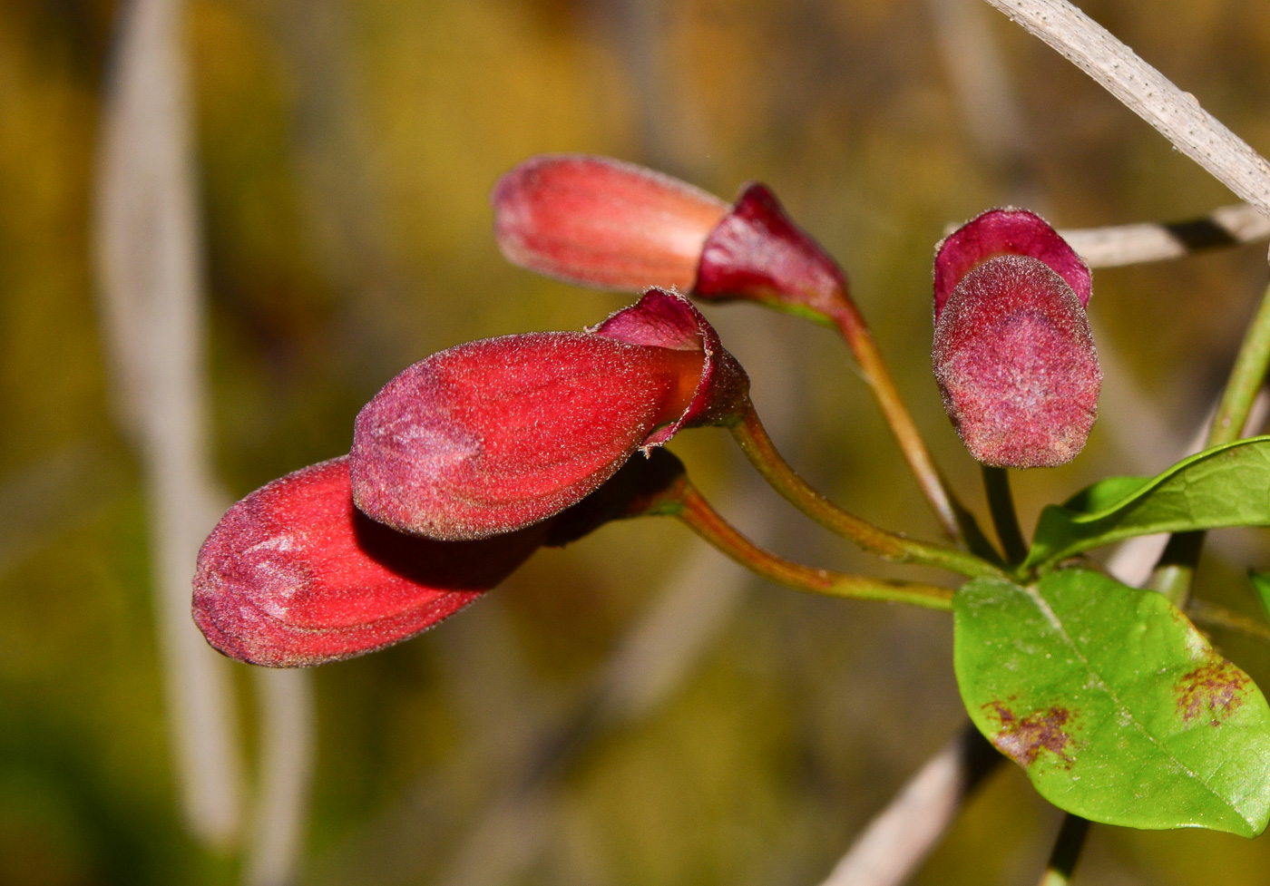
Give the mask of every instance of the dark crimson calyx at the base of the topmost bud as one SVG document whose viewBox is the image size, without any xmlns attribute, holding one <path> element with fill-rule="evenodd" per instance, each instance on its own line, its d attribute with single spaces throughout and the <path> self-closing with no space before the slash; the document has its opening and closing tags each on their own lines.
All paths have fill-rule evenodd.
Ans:
<svg viewBox="0 0 1270 886">
<path fill-rule="evenodd" d="M 706 240 L 692 294 L 801 306 L 832 317 L 846 291 L 833 259 L 790 221 L 771 190 L 751 183 Z"/>
</svg>

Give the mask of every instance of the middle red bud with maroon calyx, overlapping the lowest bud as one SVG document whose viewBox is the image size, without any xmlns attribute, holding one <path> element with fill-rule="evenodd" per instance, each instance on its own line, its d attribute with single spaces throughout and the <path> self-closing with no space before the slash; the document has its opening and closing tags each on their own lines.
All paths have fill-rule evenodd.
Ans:
<svg viewBox="0 0 1270 886">
<path fill-rule="evenodd" d="M 749 380 L 682 296 L 649 289 L 587 333 L 458 345 L 390 381 L 357 416 L 357 506 L 446 541 L 530 526 L 681 428 L 730 424 Z"/>
</svg>

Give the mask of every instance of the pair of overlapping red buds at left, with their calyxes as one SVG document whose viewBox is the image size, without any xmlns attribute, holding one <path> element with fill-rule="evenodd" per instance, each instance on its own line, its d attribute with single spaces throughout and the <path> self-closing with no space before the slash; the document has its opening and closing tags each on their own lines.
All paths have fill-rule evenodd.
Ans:
<svg viewBox="0 0 1270 886">
<path fill-rule="evenodd" d="M 226 655 L 273 666 L 405 640 L 542 545 L 673 510 L 678 462 L 631 456 L 735 421 L 748 388 L 696 308 L 660 289 L 587 333 L 433 354 L 366 405 L 347 457 L 225 514 L 199 552 L 194 621 Z"/>
</svg>

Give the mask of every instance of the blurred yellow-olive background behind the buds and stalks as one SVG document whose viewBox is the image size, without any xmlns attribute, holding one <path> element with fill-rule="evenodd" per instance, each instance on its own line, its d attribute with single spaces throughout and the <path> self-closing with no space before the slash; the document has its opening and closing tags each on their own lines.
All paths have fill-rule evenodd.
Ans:
<svg viewBox="0 0 1270 886">
<path fill-rule="evenodd" d="M 359 405 L 434 350 L 578 329 L 629 301 L 512 268 L 490 236 L 500 173 L 584 151 L 726 198 L 772 185 L 847 269 L 939 462 L 982 513 L 930 372 L 945 226 L 1005 203 L 1087 227 L 1234 201 L 1050 50 L 956 5 L 190 0 L 215 476 L 237 498 L 345 452 Z M 95 307 L 91 185 L 121 6 L 0 4 L 0 883 L 243 876 L 236 848 L 204 848 L 179 815 L 144 471 L 113 420 Z M 1270 5 L 1082 6 L 1270 152 Z M 952 46 L 950 10 L 986 28 L 1003 93 L 958 90 L 960 66 L 984 62 Z M 1264 245 L 1097 272 L 1102 415 L 1073 465 L 1016 477 L 1026 526 L 1093 479 L 1180 452 L 1265 279 Z M 751 306 L 707 314 L 800 471 L 883 526 L 936 536 L 831 333 Z M 805 528 L 721 432 L 672 448 L 772 547 L 918 575 Z M 1270 566 L 1265 542 L 1222 533 L 1199 595 L 1256 614 L 1240 576 Z M 318 669 L 298 881 L 819 882 L 960 727 L 950 621 L 738 580 L 700 547 L 671 522 L 611 526 L 420 638 Z M 692 597 L 702 583 L 714 590 Z M 668 594 L 696 600 L 663 612 L 657 636 L 679 659 L 645 649 L 669 675 L 634 691 L 646 703 L 588 716 Z M 1214 642 L 1270 684 L 1264 647 Z M 258 694 L 249 668 L 231 669 L 250 797 Z M 1031 882 L 1057 825 L 1003 767 L 916 882 Z M 248 802 L 244 834 L 260 826 Z M 1267 838 L 1096 828 L 1077 881 L 1267 876 Z"/>
</svg>

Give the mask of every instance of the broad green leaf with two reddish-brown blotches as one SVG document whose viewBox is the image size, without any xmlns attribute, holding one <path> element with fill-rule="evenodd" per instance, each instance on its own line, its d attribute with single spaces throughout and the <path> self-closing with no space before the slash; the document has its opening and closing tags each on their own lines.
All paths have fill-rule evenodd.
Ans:
<svg viewBox="0 0 1270 886">
<path fill-rule="evenodd" d="M 1163 595 L 1066 569 L 952 598 L 974 725 L 1055 806 L 1130 828 L 1260 834 L 1270 707 Z"/>
</svg>

